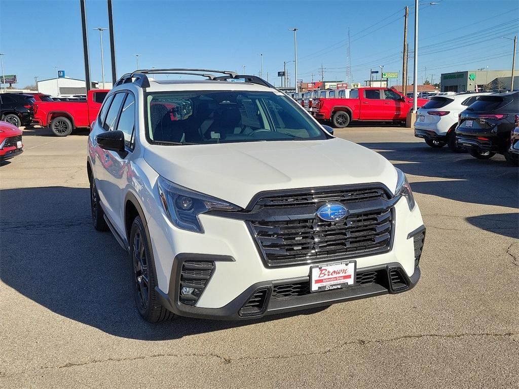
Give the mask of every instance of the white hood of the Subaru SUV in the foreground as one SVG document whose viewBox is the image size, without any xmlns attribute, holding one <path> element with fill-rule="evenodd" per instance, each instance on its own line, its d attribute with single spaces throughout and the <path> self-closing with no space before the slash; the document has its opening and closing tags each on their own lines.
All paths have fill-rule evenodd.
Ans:
<svg viewBox="0 0 519 389">
<path fill-rule="evenodd" d="M 144 159 L 175 184 L 241 207 L 265 190 L 383 183 L 393 191 L 397 185 L 397 172 L 388 160 L 340 138 L 150 145 Z"/>
</svg>

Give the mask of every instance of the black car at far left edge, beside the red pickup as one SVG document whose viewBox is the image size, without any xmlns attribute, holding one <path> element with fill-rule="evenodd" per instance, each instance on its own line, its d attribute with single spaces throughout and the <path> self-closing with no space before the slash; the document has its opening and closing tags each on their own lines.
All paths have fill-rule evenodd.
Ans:
<svg viewBox="0 0 519 389">
<path fill-rule="evenodd" d="M 13 126 L 28 126 L 34 117 L 34 97 L 30 94 L 0 93 L 0 120 Z"/>
</svg>

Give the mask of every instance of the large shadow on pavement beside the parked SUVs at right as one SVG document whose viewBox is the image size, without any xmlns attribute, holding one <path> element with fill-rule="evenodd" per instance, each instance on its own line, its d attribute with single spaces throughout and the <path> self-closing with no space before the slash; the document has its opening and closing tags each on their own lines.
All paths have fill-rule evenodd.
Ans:
<svg viewBox="0 0 519 389">
<path fill-rule="evenodd" d="M 415 192 L 474 204 L 510 208 L 519 205 L 519 171 L 500 155 L 479 160 L 447 147 L 433 149 L 425 142 L 361 145 L 378 151 L 404 173 L 425 177 L 411 183 Z"/>
</svg>

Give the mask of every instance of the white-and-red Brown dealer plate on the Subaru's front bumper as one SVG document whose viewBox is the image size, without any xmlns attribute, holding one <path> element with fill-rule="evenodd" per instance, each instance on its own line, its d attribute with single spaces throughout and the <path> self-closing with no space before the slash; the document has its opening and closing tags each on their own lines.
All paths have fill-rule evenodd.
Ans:
<svg viewBox="0 0 519 389">
<path fill-rule="evenodd" d="M 310 291 L 333 290 L 354 285 L 356 270 L 356 261 L 312 266 L 310 268 Z"/>
</svg>

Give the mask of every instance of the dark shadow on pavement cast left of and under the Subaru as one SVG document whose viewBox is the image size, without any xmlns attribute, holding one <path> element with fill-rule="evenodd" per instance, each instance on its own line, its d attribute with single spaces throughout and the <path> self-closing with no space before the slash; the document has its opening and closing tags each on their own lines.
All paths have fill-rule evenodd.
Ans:
<svg viewBox="0 0 519 389">
<path fill-rule="evenodd" d="M 146 323 L 134 305 L 126 252 L 110 232 L 97 232 L 91 225 L 89 189 L 5 189 L 0 202 L 0 280 L 59 315 L 141 340 L 182 338 L 283 317 L 245 322 L 177 317 Z"/>
</svg>

